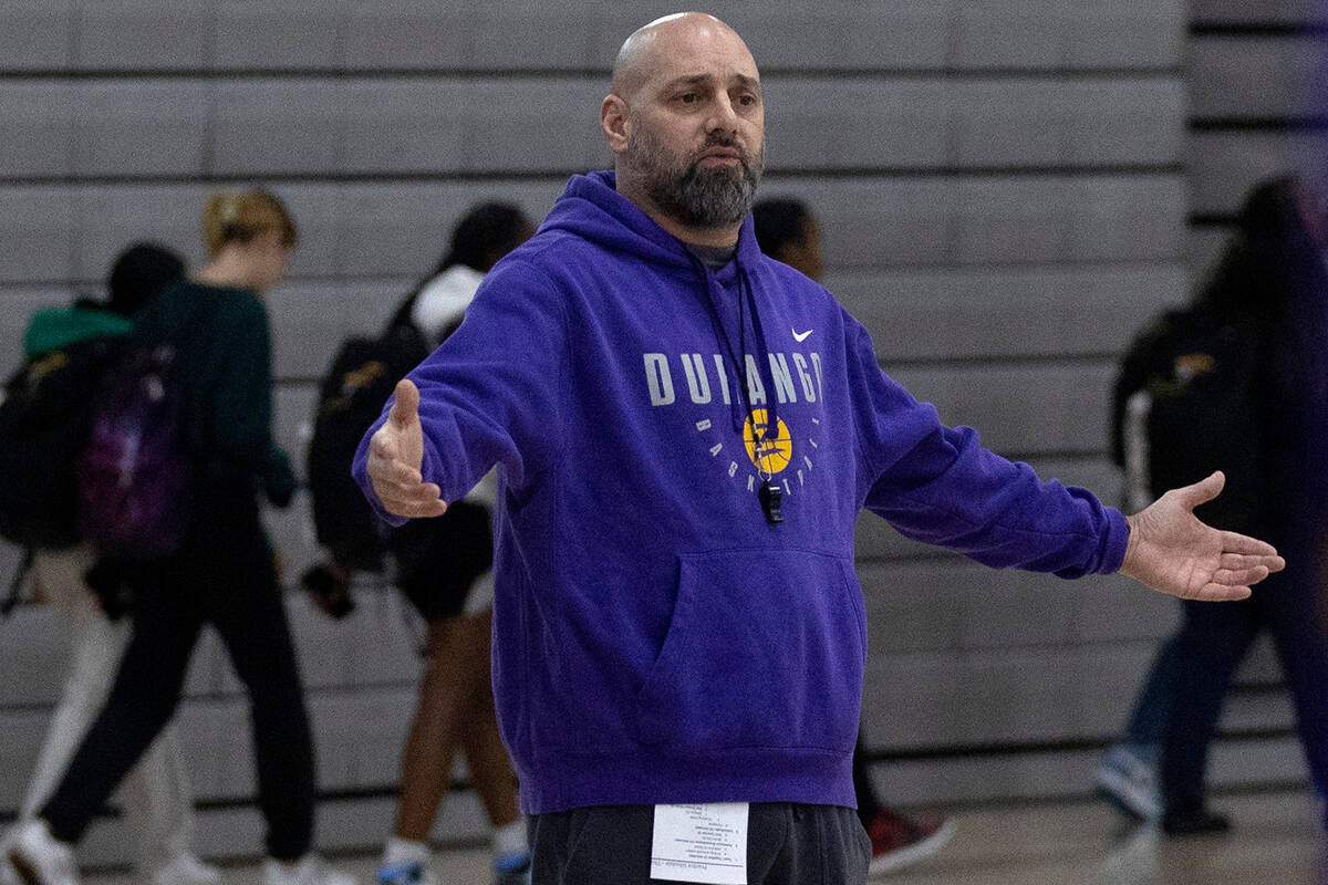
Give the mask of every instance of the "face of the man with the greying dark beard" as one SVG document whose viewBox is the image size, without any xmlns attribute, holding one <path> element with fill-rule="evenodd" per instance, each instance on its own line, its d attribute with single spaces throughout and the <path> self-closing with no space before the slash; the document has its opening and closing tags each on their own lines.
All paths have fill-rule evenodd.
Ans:
<svg viewBox="0 0 1328 885">
<path fill-rule="evenodd" d="M 765 166 L 756 64 L 736 34 L 661 34 L 629 102 L 622 162 L 661 212 L 687 227 L 740 224 Z"/>
</svg>

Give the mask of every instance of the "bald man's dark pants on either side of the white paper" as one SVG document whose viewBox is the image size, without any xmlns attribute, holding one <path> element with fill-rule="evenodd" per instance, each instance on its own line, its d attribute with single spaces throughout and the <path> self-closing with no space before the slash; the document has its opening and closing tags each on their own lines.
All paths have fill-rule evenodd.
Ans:
<svg viewBox="0 0 1328 885">
<path fill-rule="evenodd" d="M 653 805 L 598 805 L 531 819 L 531 885 L 652 885 Z M 756 803 L 749 885 L 862 885 L 871 861 L 851 808 Z"/>
</svg>

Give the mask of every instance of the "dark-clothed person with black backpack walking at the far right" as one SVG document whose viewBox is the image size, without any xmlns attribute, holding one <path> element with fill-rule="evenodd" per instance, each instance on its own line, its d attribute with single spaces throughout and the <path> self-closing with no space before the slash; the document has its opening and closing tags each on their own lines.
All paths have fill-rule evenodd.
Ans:
<svg viewBox="0 0 1328 885">
<path fill-rule="evenodd" d="M 1112 407 L 1113 455 L 1141 495 L 1223 470 L 1210 524 L 1267 537 L 1287 560 L 1259 593 L 1228 606 L 1182 602 L 1123 740 L 1097 771 L 1101 792 L 1169 836 L 1224 832 L 1204 770 L 1223 699 L 1268 629 L 1291 687 L 1320 797 L 1328 795 L 1328 216 L 1303 182 L 1259 182 L 1194 303 L 1171 310 L 1125 356 Z M 1325 816 L 1328 827 L 1328 816 Z"/>
</svg>

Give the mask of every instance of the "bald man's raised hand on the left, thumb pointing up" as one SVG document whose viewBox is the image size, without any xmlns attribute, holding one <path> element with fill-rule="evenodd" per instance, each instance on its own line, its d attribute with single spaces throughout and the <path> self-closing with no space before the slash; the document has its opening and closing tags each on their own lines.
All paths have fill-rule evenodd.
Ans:
<svg viewBox="0 0 1328 885">
<path fill-rule="evenodd" d="M 402 378 L 393 391 L 388 419 L 369 438 L 367 463 L 373 494 L 382 510 L 396 516 L 442 516 L 448 504 L 434 483 L 424 482 L 424 427 L 420 425 L 420 389 Z"/>
</svg>

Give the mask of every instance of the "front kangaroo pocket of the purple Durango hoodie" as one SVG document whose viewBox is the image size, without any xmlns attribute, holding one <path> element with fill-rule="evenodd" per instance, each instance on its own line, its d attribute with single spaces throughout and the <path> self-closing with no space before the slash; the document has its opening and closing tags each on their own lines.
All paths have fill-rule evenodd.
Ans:
<svg viewBox="0 0 1328 885">
<path fill-rule="evenodd" d="M 851 563 L 786 549 L 679 564 L 673 618 L 636 695 L 641 743 L 853 747 L 866 612 Z"/>
</svg>

